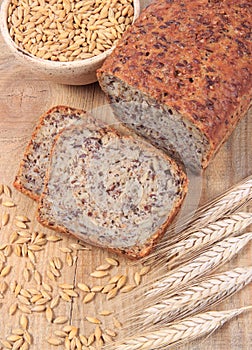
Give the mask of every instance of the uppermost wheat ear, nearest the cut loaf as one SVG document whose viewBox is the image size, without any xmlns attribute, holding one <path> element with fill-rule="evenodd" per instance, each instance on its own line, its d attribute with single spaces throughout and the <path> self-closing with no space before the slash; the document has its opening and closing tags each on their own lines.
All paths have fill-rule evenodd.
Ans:
<svg viewBox="0 0 252 350">
<path fill-rule="evenodd" d="M 244 204 L 252 199 L 252 175 L 245 178 L 228 191 L 218 196 L 213 201 L 199 208 L 194 216 L 188 216 L 180 227 L 174 225 L 166 232 L 162 242 L 160 242 L 152 254 L 142 259 L 142 263 L 153 264 L 155 259 L 165 255 L 168 247 L 187 238 L 192 232 L 213 223 L 216 220 L 237 211 Z M 164 249 L 164 251 L 162 251 Z"/>
</svg>

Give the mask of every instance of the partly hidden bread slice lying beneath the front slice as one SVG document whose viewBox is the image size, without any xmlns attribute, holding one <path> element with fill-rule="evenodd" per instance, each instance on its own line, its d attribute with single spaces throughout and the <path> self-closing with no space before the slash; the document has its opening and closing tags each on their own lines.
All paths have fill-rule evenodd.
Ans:
<svg viewBox="0 0 252 350">
<path fill-rule="evenodd" d="M 40 117 L 21 161 L 14 187 L 39 200 L 55 136 L 65 127 L 88 120 L 83 111 L 67 106 L 55 106 Z"/>
</svg>

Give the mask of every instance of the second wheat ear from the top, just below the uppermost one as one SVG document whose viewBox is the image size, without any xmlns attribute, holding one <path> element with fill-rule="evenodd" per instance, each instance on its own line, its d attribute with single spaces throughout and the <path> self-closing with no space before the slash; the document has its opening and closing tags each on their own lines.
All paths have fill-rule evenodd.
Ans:
<svg viewBox="0 0 252 350">
<path fill-rule="evenodd" d="M 252 213 L 239 212 L 231 214 L 222 220 L 210 223 L 207 226 L 192 231 L 186 239 L 160 249 L 160 256 L 155 259 L 155 265 L 169 264 L 174 268 L 179 264 L 190 260 L 193 253 L 199 249 L 206 249 L 211 244 L 230 235 L 242 233 L 246 227 L 252 224 Z M 152 265 L 152 268 L 154 267 Z"/>
</svg>

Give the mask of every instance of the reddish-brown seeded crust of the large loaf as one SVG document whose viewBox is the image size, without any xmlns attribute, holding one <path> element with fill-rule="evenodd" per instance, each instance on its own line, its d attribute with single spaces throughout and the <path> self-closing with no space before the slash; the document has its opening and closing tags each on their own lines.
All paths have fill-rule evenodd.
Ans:
<svg viewBox="0 0 252 350">
<path fill-rule="evenodd" d="M 205 168 L 251 105 L 250 8 L 155 0 L 98 70 L 102 89 L 114 76 L 192 122 L 209 141 Z"/>
</svg>

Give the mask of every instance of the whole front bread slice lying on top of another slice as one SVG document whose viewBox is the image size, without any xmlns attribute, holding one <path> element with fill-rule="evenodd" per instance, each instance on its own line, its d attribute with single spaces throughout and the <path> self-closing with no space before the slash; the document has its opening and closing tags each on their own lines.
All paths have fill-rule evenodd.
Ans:
<svg viewBox="0 0 252 350">
<path fill-rule="evenodd" d="M 139 259 L 163 236 L 187 182 L 172 159 L 144 140 L 97 123 L 73 126 L 56 137 L 38 221 Z"/>
</svg>

